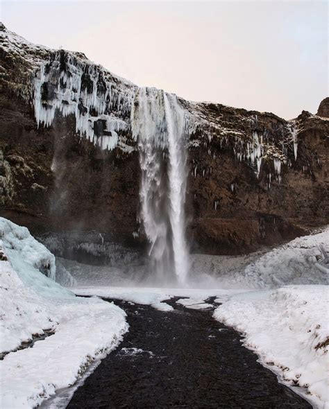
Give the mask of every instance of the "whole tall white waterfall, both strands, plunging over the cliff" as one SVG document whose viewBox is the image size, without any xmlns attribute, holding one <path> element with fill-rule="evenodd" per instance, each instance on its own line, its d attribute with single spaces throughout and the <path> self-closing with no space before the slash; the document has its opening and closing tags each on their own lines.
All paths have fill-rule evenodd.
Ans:
<svg viewBox="0 0 329 409">
<path fill-rule="evenodd" d="M 174 275 L 183 284 L 189 266 L 184 211 L 184 112 L 176 96 L 140 88 L 131 123 L 140 155 L 140 215 L 150 242 L 151 268 L 158 278 L 165 280 Z"/>
</svg>

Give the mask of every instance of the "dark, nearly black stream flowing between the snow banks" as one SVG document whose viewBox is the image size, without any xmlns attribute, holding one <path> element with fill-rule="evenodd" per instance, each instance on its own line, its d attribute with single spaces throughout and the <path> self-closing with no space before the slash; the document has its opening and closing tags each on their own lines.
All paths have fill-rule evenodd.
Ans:
<svg viewBox="0 0 329 409">
<path fill-rule="evenodd" d="M 176 311 L 115 300 L 130 330 L 67 408 L 312 408 L 279 384 L 212 311 L 168 303 Z"/>
</svg>

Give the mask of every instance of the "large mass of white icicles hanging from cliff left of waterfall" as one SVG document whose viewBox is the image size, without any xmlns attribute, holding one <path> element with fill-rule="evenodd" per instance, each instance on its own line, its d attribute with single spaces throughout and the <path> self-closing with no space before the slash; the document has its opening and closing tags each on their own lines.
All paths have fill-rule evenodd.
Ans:
<svg viewBox="0 0 329 409">
<path fill-rule="evenodd" d="M 37 125 L 51 125 L 56 110 L 74 114 L 76 132 L 108 150 L 117 147 L 118 132 L 129 128 L 135 87 L 125 87 L 95 64 L 59 51 L 35 71 L 33 84 Z"/>
</svg>

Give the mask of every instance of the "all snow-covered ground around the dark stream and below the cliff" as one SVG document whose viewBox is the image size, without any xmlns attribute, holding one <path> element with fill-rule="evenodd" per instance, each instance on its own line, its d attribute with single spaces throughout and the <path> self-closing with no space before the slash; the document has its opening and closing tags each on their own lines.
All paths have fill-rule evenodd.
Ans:
<svg viewBox="0 0 329 409">
<path fill-rule="evenodd" d="M 8 258 L 0 261 L 0 349 L 10 352 L 0 362 L 1 408 L 36 406 L 74 384 L 102 351 L 116 347 L 128 330 L 126 315 L 97 297 L 162 311 L 173 309 L 165 302 L 171 297 L 187 308 L 207 308 L 212 306 L 207 299 L 216 297 L 223 303 L 214 312 L 217 320 L 242 331 L 244 344 L 282 381 L 301 385 L 315 406 L 329 408 L 328 274 L 317 268 L 329 229 L 270 252 L 194 255 L 186 288 L 150 287 L 143 266 L 123 272 L 58 259 L 56 270 L 54 256 L 24 227 L 0 218 L 0 234 L 5 254 L 0 260 Z M 54 334 L 16 351 L 48 329 Z"/>
</svg>

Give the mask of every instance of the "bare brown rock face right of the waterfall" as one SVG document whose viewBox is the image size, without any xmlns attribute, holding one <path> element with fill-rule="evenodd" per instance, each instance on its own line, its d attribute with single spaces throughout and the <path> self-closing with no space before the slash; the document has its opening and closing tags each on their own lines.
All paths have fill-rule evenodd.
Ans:
<svg viewBox="0 0 329 409">
<path fill-rule="evenodd" d="M 223 116 L 234 113 L 228 118 L 233 117 L 237 129 L 242 126 L 239 114 L 250 114 L 221 106 L 217 112 Z M 212 141 L 214 156 L 202 145 L 190 153 L 195 166 L 190 180 L 192 229 L 204 252 L 215 253 L 218 247 L 224 253 L 237 248 L 255 250 L 328 223 L 329 121 L 310 112 L 289 122 L 272 114 L 257 115 L 253 128 L 259 134 L 271 130 L 271 137 L 282 143 L 282 162 L 267 151 L 258 173 L 250 161 L 240 160 L 234 152 L 234 137 L 231 146 Z M 283 134 L 289 125 L 295 132 L 295 146 Z M 275 169 L 278 163 L 282 163 L 280 175 Z"/>
</svg>

